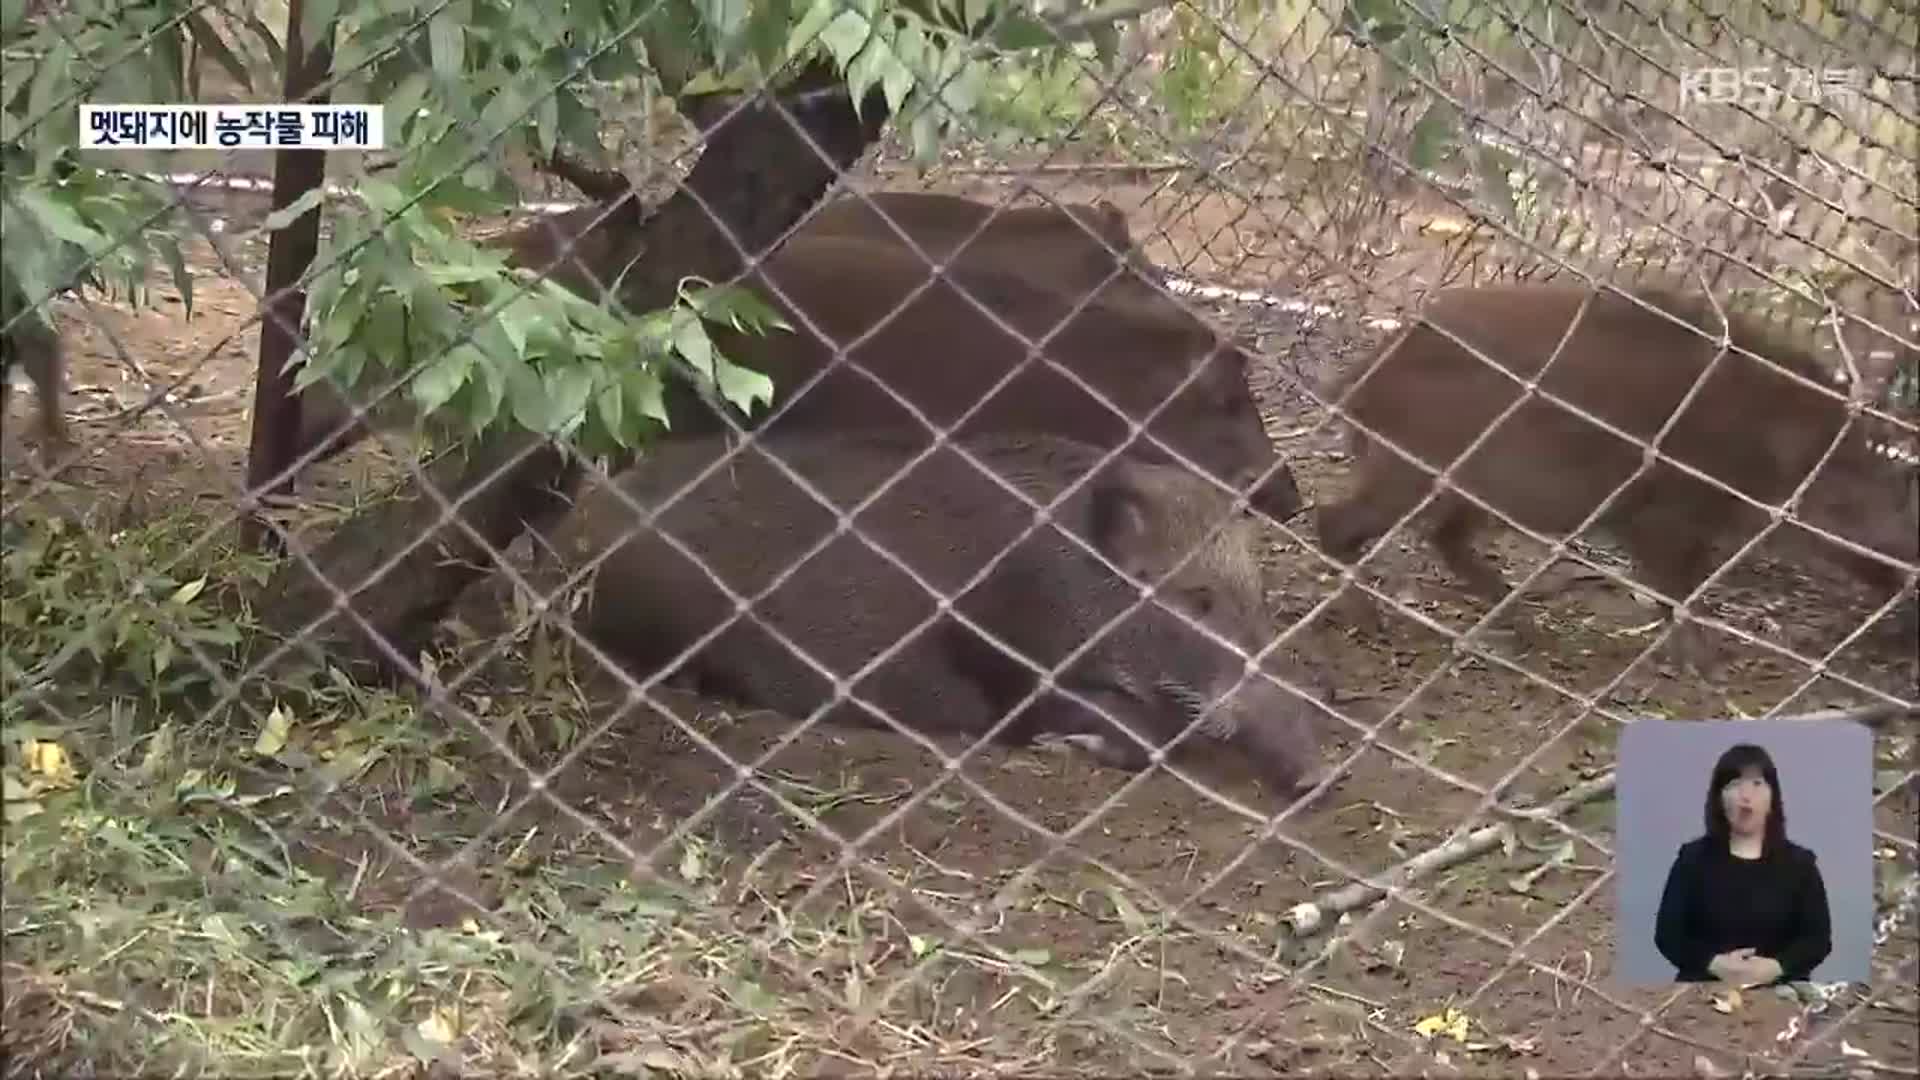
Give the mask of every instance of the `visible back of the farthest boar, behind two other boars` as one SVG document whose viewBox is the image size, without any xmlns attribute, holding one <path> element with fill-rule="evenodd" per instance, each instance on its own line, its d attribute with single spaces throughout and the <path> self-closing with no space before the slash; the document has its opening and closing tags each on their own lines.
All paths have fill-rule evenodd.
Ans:
<svg viewBox="0 0 1920 1080">
<path fill-rule="evenodd" d="M 1190 317 L 1156 288 L 1160 271 L 1135 246 L 1127 215 L 1106 200 L 1002 209 L 939 192 L 845 194 L 814 211 L 795 236 L 856 238 L 912 252 L 900 233 L 925 258 L 1008 271 L 1071 302 L 1094 294 L 1102 304 L 1140 304 L 1167 317 Z M 1116 273 L 1123 265 L 1133 273 Z"/>
</svg>

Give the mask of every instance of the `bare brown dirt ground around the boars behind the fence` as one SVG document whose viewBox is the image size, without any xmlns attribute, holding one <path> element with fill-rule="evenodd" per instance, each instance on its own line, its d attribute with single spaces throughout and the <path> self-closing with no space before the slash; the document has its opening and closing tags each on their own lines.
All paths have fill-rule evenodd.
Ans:
<svg viewBox="0 0 1920 1080">
<path fill-rule="evenodd" d="M 989 194 L 998 181 L 941 186 Z M 1212 252 L 1198 261 L 1213 265 L 1196 265 L 1196 273 L 1213 281 L 1244 288 L 1286 277 L 1294 240 L 1273 227 L 1284 217 L 1277 206 L 1242 215 L 1219 198 L 1102 177 L 1050 192 L 1114 200 L 1162 263 Z M 217 204 L 227 234 L 263 213 L 261 196 L 204 202 Z M 1404 225 L 1409 259 L 1425 258 L 1419 225 L 1419 213 Z M 1219 273 L 1219 263 L 1242 256 L 1254 261 Z M 156 288 L 157 309 L 90 302 L 104 327 L 90 325 L 81 302 L 61 304 L 71 413 L 88 446 L 61 484 L 140 492 L 156 513 L 186 500 L 215 509 L 234 498 L 246 459 L 253 290 L 265 244 L 238 244 L 234 263 L 238 279 L 223 277 L 228 271 L 209 246 L 194 250 L 192 319 L 182 317 L 167 284 Z M 1294 380 L 1329 375 L 1379 338 L 1380 331 L 1363 325 L 1369 311 L 1352 306 L 1350 284 L 1327 282 L 1327 302 L 1338 309 L 1317 319 L 1279 306 L 1210 307 L 1252 331 L 1267 356 L 1256 392 L 1313 500 L 1340 490 L 1342 455 L 1336 432 L 1321 425 Z M 175 384 L 175 400 L 125 415 L 142 396 L 136 371 Z M 19 467 L 12 432 L 31 400 L 23 392 L 12 405 L 10 473 Z M 305 492 L 349 503 L 390 471 L 384 450 L 363 444 L 317 469 Z M 1304 519 L 1296 525 L 1306 528 Z M 1311 611 L 1332 580 L 1304 553 L 1302 540 L 1309 536 L 1273 540 L 1277 626 Z M 1594 552 L 1605 557 L 1603 548 Z M 1528 552 L 1505 540 L 1501 555 L 1513 575 Z M 1423 552 L 1402 542 L 1382 563 L 1402 601 L 1455 632 L 1471 623 L 1476 609 L 1448 588 Z M 728 717 L 685 701 L 689 724 L 730 761 L 643 709 L 611 721 L 609 732 L 574 757 L 526 751 L 513 763 L 476 740 L 467 786 L 430 807 L 353 805 L 344 792 L 334 813 L 338 822 L 365 813 L 426 859 L 459 853 L 449 838 L 478 838 L 442 880 L 499 911 L 520 888 L 511 863 L 524 857 L 530 834 L 551 857 L 599 859 L 628 872 L 643 863 L 668 878 L 684 876 L 695 849 L 687 838 L 701 838 L 710 872 L 735 897 L 737 920 L 764 930 L 764 961 L 787 972 L 783 986 L 797 1001 L 833 1024 L 845 1059 L 814 1061 L 810 1070 L 881 1063 L 883 1047 L 904 1040 L 920 1057 L 891 1065 L 916 1072 L 1713 1076 L 1795 1059 L 1868 1072 L 1864 1063 L 1874 1061 L 1910 1074 L 1920 1063 L 1912 990 L 1920 947 L 1910 909 L 1876 949 L 1874 982 L 1820 1011 L 1772 995 L 1730 1007 L 1707 990 L 1620 986 L 1611 974 L 1611 803 L 1584 805 L 1565 826 L 1482 809 L 1488 799 L 1536 805 L 1611 767 L 1619 724 L 1582 717 L 1580 698 L 1622 713 L 1715 719 L 1782 703 L 1789 713 L 1811 711 L 1859 701 L 1860 694 L 1751 648 L 1736 648 L 1718 678 L 1645 663 L 1626 675 L 1644 646 L 1630 630 L 1651 621 L 1647 607 L 1571 573 L 1544 582 L 1542 596 L 1538 607 L 1557 630 L 1551 651 L 1492 642 L 1530 676 L 1455 655 L 1446 636 L 1404 617 L 1382 638 L 1356 636 L 1327 619 L 1306 626 L 1286 655 L 1317 686 L 1332 688 L 1334 707 L 1356 724 L 1396 719 L 1373 746 L 1361 746 L 1363 728 L 1340 724 L 1331 751 L 1357 753 L 1346 778 L 1323 805 L 1286 819 L 1265 840 L 1261 822 L 1212 794 L 1271 813 L 1248 778 L 1225 771 L 1194 765 L 1190 778 L 1162 773 L 1131 782 L 1060 751 L 981 749 L 943 782 L 939 763 L 914 744 L 849 730 L 808 730 L 756 761 L 789 723 Z M 1730 575 L 1713 601 L 1736 623 L 1809 657 L 1824 657 L 1868 611 L 1864 596 L 1839 577 L 1764 561 Z M 1912 642 L 1887 625 L 1830 665 L 1847 678 L 1914 696 Z M 515 678 L 507 665 L 493 665 L 461 692 L 499 700 L 516 692 Z M 1882 736 L 1878 767 L 1910 769 L 1910 757 L 1899 757 L 1910 746 L 1910 732 Z M 540 790 L 524 773 L 536 761 L 540 769 L 559 765 Z M 753 763 L 789 807 L 804 807 L 852 846 L 797 822 L 770 794 L 739 788 L 733 763 Z M 1085 822 L 1129 782 L 1114 805 Z M 1884 794 L 1876 805 L 1882 882 L 1914 874 L 1916 809 L 1910 790 Z M 1342 926 L 1346 940 L 1331 951 L 1321 951 L 1325 940 L 1288 942 L 1283 920 L 1294 905 L 1327 897 L 1350 874 L 1386 871 L 1436 847 L 1455 830 L 1503 821 L 1515 844 L 1427 876 L 1404 899 L 1354 911 Z M 296 846 L 313 865 L 342 874 L 371 853 L 374 886 L 361 894 L 365 903 L 407 905 L 419 924 L 474 915 L 445 892 L 413 896 L 419 878 L 390 849 L 338 822 Z M 1079 830 L 1066 849 L 1044 832 L 1073 826 Z M 1555 851 L 1563 844 L 1569 847 Z M 1882 901 L 1889 901 L 1884 888 Z M 783 930 L 801 913 L 858 928 L 854 938 L 866 951 L 833 959 L 803 951 Z M 977 928 L 977 940 L 956 930 L 964 922 Z M 987 945 L 1018 953 L 1033 970 L 1018 970 Z M 908 980 L 916 969 L 924 969 L 920 978 Z M 634 995 L 622 1009 L 641 1013 L 687 1009 L 703 994 L 685 982 L 628 990 Z M 1417 1028 L 1450 1009 L 1471 1020 L 1461 1038 Z M 618 1042 L 618 1028 L 601 1038 Z"/>
</svg>

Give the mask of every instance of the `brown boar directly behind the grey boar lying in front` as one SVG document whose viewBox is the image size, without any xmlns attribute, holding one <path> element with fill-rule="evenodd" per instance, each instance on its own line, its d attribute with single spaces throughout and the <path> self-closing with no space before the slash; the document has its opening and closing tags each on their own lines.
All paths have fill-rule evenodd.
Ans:
<svg viewBox="0 0 1920 1080">
<path fill-rule="evenodd" d="M 515 233 L 515 261 L 530 267 L 553 263 L 555 256 L 540 248 L 555 246 L 563 234 L 564 229 L 549 233 L 541 223 Z M 933 284 L 916 296 L 929 279 Z M 574 281 L 568 279 L 568 284 Z M 732 359 L 774 380 L 774 411 L 780 413 L 774 423 L 780 430 L 908 429 L 931 438 L 910 411 L 845 365 L 818 382 L 810 379 L 833 359 L 833 344 L 858 342 L 851 350 L 854 361 L 929 421 L 947 427 L 1027 359 L 1027 346 L 1002 329 L 1000 319 L 1035 340 L 1054 334 L 1046 354 L 1135 419 L 1173 396 L 1181 380 L 1200 367 L 1200 375 L 1154 417 L 1148 430 L 1221 482 L 1250 488 L 1254 509 L 1277 521 L 1302 509 L 1292 471 L 1275 454 L 1260 421 L 1246 380 L 1246 352 L 1192 317 L 1165 319 L 1137 306 L 1075 311 L 1062 296 L 991 267 L 950 267 L 935 279 L 933 269 L 904 248 L 849 236 L 795 236 L 760 263 L 749 284 L 780 307 L 795 332 L 756 336 L 716 331 L 716 342 Z M 808 325 L 818 327 L 828 342 Z M 346 417 L 344 400 L 324 382 L 309 388 L 303 405 L 301 448 L 326 442 Z M 722 419 L 680 380 L 668 382 L 668 415 L 670 436 L 707 434 L 722 427 Z M 768 411 L 760 409 L 745 423 L 753 427 L 766 417 Z M 1041 363 L 1027 365 L 962 429 L 981 430 L 1050 432 L 1098 446 L 1119 446 L 1129 434 L 1123 415 Z M 361 434 L 359 429 L 348 430 L 323 459 Z M 1144 438 L 1133 442 L 1131 452 L 1165 459 Z"/>
</svg>

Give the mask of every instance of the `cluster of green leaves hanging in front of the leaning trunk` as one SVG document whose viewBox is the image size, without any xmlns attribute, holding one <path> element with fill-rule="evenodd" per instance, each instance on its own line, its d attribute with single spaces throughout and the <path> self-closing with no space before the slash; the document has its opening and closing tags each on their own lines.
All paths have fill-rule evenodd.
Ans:
<svg viewBox="0 0 1920 1080">
<path fill-rule="evenodd" d="M 693 281 L 666 309 L 616 317 L 509 271 L 501 252 L 455 236 L 397 184 L 372 179 L 338 206 L 319 265 L 309 300 L 319 359 L 296 384 L 403 380 L 413 405 L 455 438 L 511 421 L 588 454 L 634 448 L 670 423 L 668 373 L 751 413 L 772 402 L 772 382 L 730 361 L 707 323 L 789 329 L 749 290 Z"/>
</svg>

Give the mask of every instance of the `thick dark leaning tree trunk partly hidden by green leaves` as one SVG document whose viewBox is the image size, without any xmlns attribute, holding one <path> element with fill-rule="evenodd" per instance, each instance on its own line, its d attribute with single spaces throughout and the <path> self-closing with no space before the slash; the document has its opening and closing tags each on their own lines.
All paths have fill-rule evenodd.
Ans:
<svg viewBox="0 0 1920 1080">
<path fill-rule="evenodd" d="M 597 300 L 591 284 L 626 271 L 618 298 L 630 311 L 664 307 L 684 277 L 732 281 L 747 265 L 743 252 L 770 250 L 879 138 L 885 121 L 877 90 L 856 113 L 831 67 L 816 65 L 778 102 L 762 92 L 732 117 L 703 125 L 701 160 L 651 215 L 622 194 L 612 206 L 536 221 L 528 242 L 513 244 L 515 261 L 553 265 L 559 244 L 532 240 L 532 231 L 549 240 L 570 233 L 580 244 L 553 267 L 557 281 Z M 294 544 L 255 607 L 261 621 L 323 650 L 334 665 L 392 675 L 417 659 L 461 592 L 493 573 L 522 528 L 541 528 L 566 511 L 580 465 L 515 430 L 453 450 L 422 473 L 432 490 L 411 482 L 403 498 L 349 519 L 311 552 L 311 565 Z"/>
</svg>

